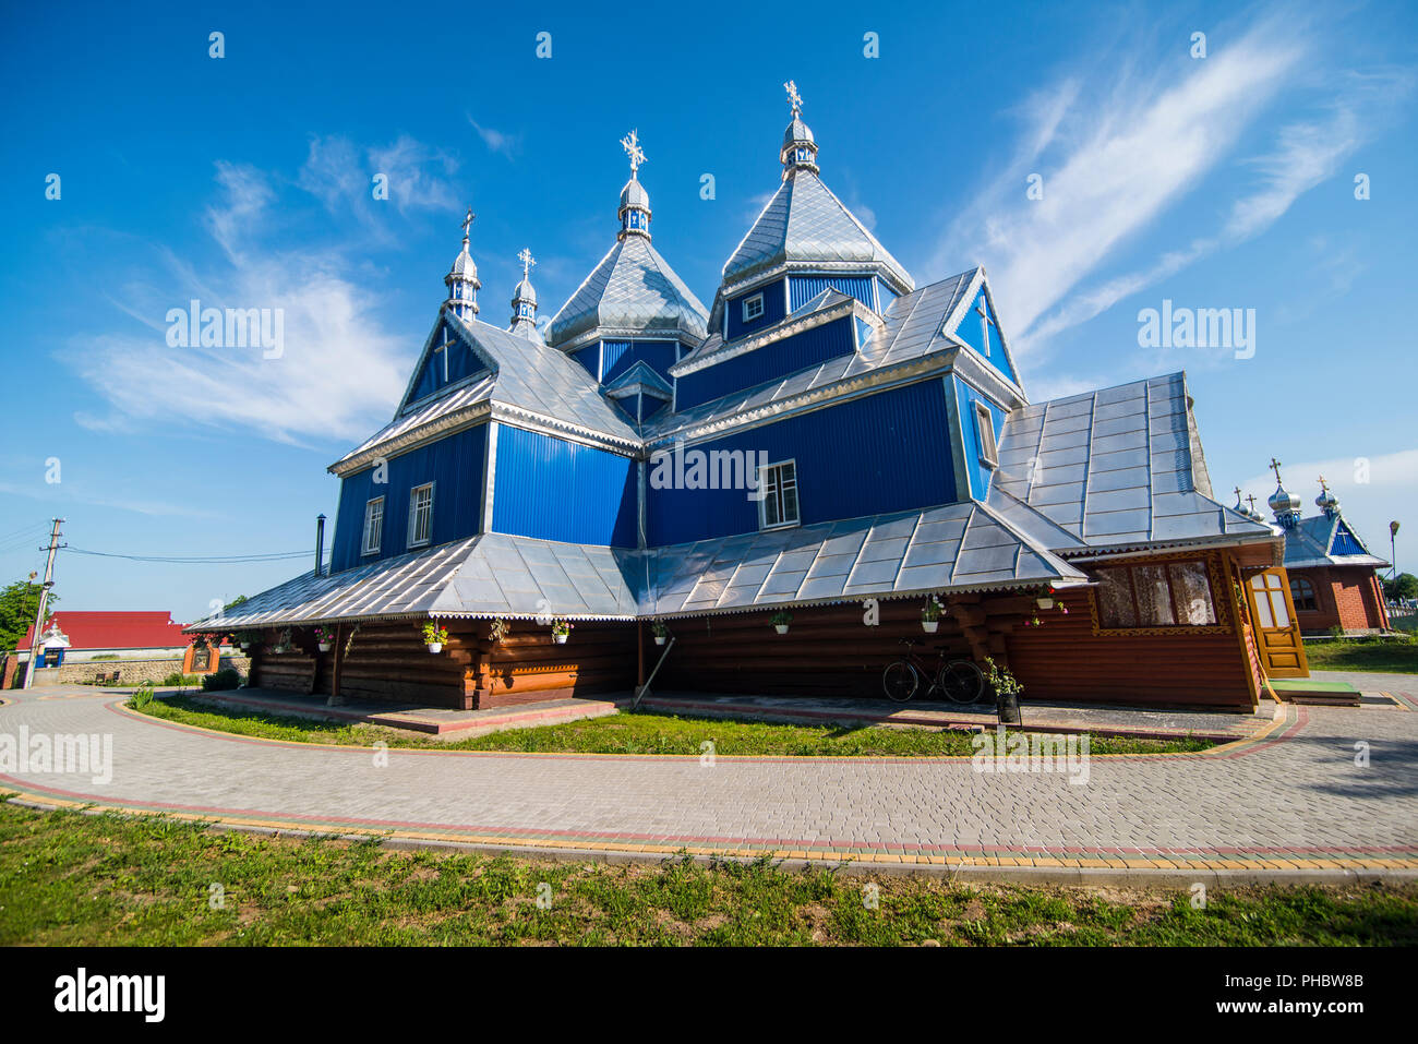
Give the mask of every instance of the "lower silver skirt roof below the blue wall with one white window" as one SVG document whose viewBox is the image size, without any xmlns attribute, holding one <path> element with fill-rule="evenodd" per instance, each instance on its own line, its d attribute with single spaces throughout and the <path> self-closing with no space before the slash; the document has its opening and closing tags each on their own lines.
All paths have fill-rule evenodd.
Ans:
<svg viewBox="0 0 1418 1044">
<path fill-rule="evenodd" d="M 986 590 L 1088 577 L 983 504 L 722 536 L 649 552 L 649 616 L 871 596 Z"/>
</svg>

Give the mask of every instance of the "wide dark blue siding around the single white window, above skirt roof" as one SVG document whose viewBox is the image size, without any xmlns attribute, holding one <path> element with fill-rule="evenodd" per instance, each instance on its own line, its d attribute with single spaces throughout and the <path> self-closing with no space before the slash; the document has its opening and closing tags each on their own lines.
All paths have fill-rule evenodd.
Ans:
<svg viewBox="0 0 1418 1044">
<path fill-rule="evenodd" d="M 804 525 L 956 499 L 939 377 L 688 448 L 752 452 L 754 462 L 759 451 L 770 464 L 795 460 Z M 759 504 L 746 489 L 655 489 L 647 482 L 645 494 L 651 545 L 759 528 Z"/>
</svg>

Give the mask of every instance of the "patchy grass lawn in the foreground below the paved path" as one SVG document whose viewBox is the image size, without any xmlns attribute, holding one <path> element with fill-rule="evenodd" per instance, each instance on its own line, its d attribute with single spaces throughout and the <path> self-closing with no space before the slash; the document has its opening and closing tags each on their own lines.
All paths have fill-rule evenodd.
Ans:
<svg viewBox="0 0 1418 1044">
<path fill-rule="evenodd" d="M 0 801 L 0 946 L 292 943 L 1415 945 L 1418 885 L 1212 888 L 1201 911 L 1184 891 L 406 853 Z"/>
</svg>

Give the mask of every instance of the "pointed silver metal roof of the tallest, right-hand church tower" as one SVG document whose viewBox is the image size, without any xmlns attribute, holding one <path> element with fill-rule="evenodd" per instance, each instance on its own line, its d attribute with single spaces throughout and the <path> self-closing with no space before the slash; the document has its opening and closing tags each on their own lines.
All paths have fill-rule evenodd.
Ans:
<svg viewBox="0 0 1418 1044">
<path fill-rule="evenodd" d="M 804 262 L 876 268 L 900 291 L 915 287 L 900 262 L 822 180 L 813 170 L 795 167 L 725 264 L 723 282 L 737 284 L 778 265 Z"/>
</svg>

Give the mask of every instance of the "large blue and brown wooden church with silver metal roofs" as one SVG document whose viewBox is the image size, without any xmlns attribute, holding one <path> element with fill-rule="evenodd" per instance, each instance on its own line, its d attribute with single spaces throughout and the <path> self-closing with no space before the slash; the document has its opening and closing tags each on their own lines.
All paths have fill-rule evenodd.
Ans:
<svg viewBox="0 0 1418 1044">
<path fill-rule="evenodd" d="M 510 323 L 481 318 L 465 224 L 394 417 L 330 465 L 329 567 L 190 630 L 235 631 L 254 685 L 454 708 L 655 671 L 881 696 L 905 637 L 1029 698 L 1249 711 L 1306 674 L 1285 540 L 1214 499 L 1185 374 L 1031 401 L 984 270 L 916 285 L 787 87 L 709 308 L 652 243 L 634 133 L 615 241 L 545 339 L 525 251 Z"/>
</svg>

